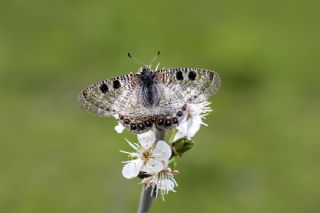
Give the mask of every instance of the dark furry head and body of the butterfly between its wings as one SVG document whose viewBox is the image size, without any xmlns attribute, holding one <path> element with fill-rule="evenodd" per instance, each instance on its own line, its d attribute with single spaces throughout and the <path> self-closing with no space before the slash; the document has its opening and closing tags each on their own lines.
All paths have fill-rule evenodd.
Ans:
<svg viewBox="0 0 320 213">
<path fill-rule="evenodd" d="M 160 96 L 157 88 L 157 78 L 149 67 L 143 67 L 140 73 L 140 85 L 142 88 L 143 105 L 156 107 L 159 104 Z"/>
</svg>

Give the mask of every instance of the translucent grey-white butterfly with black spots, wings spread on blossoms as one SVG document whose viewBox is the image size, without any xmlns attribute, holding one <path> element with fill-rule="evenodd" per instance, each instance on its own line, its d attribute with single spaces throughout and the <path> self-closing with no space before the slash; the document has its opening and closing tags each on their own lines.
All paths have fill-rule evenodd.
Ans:
<svg viewBox="0 0 320 213">
<path fill-rule="evenodd" d="M 84 89 L 79 105 L 97 116 L 113 116 L 140 134 L 153 127 L 170 129 L 186 116 L 187 104 L 207 101 L 220 87 L 219 75 L 202 68 L 154 71 L 143 66 L 137 73 L 104 80 Z"/>
</svg>

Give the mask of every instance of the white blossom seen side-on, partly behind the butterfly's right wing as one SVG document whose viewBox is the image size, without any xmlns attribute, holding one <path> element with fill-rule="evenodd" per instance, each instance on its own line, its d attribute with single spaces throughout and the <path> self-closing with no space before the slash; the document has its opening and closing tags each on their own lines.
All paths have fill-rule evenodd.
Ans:
<svg viewBox="0 0 320 213">
<path fill-rule="evenodd" d="M 188 140 L 191 140 L 191 138 L 199 131 L 201 125 L 207 126 L 202 119 L 212 111 L 209 105 L 210 103 L 206 101 L 200 104 L 188 104 L 187 116 L 177 127 L 178 133 L 175 135 L 173 141 L 177 141 L 183 137 L 187 137 Z"/>
</svg>

